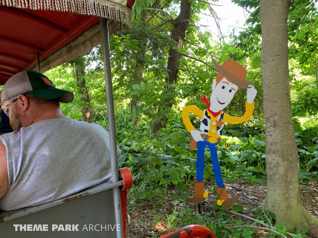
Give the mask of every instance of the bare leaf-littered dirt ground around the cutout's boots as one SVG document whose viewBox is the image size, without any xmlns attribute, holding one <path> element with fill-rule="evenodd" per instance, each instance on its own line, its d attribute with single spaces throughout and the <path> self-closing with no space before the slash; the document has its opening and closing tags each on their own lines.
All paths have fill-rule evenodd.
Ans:
<svg viewBox="0 0 318 238">
<path fill-rule="evenodd" d="M 211 188 L 214 184 L 209 182 L 206 183 L 206 191 L 211 191 Z M 244 214 L 249 217 L 254 217 L 253 214 L 249 212 L 250 207 L 259 206 L 262 201 L 265 199 L 267 187 L 261 186 L 259 184 L 254 185 L 252 183 L 242 182 L 227 182 L 226 189 L 230 196 L 235 194 L 239 195 L 239 204 L 246 208 L 244 211 L 239 213 Z M 174 190 L 169 191 L 173 193 Z M 189 193 L 193 192 L 193 188 L 189 189 Z M 211 207 L 214 206 L 215 196 L 212 193 L 209 193 L 209 197 L 205 200 L 204 205 L 201 206 L 202 212 L 210 212 Z M 301 196 L 303 205 L 307 211 L 311 214 L 318 217 L 318 186 L 314 183 L 301 183 Z M 139 202 L 138 208 L 132 213 L 128 213 L 128 224 L 127 224 L 127 238 L 142 238 L 142 237 L 151 237 L 153 233 L 157 233 L 159 237 L 169 232 L 169 226 L 164 219 L 160 217 L 167 217 L 171 215 L 173 210 L 176 208 L 176 211 L 179 211 L 181 208 L 193 208 L 193 211 L 197 212 L 197 206 L 195 204 L 189 204 L 183 201 L 171 201 L 167 198 L 165 204 L 160 207 L 155 207 L 146 200 L 141 200 Z M 248 221 L 245 218 L 232 215 L 235 218 Z M 159 217 L 159 218 L 158 218 Z M 142 222 L 141 222 L 142 221 Z M 266 235 L 266 232 L 262 233 Z M 268 234 L 269 235 L 269 234 Z M 313 228 L 311 233 L 308 234 L 308 238 L 318 238 L 318 228 Z"/>
</svg>

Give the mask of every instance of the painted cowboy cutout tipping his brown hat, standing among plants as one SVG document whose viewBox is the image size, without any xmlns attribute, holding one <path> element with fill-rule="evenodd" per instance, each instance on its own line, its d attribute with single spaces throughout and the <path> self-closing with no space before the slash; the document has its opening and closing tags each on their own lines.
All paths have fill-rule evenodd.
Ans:
<svg viewBox="0 0 318 238">
<path fill-rule="evenodd" d="M 187 130 L 190 132 L 190 150 L 194 150 L 197 146 L 197 177 L 194 178 L 194 196 L 187 198 L 187 202 L 203 203 L 204 197 L 207 193 L 203 193 L 204 183 L 204 150 L 208 146 L 211 153 L 211 160 L 213 172 L 217 186 L 214 186 L 218 192 L 220 200 L 217 201 L 218 205 L 224 205 L 225 208 L 230 208 L 239 199 L 238 195 L 229 197 L 224 187 L 221 168 L 218 163 L 218 155 L 216 145 L 221 140 L 222 130 L 224 123 L 239 124 L 249 120 L 254 110 L 254 98 L 256 96 L 256 89 L 254 84 L 245 81 L 247 75 L 246 69 L 234 61 L 227 59 L 222 66 L 216 63 L 213 59 L 213 65 L 219 72 L 216 79 L 212 83 L 212 93 L 210 102 L 204 96 L 202 101 L 206 103 L 207 109 L 200 110 L 196 106 L 187 106 L 183 108 L 182 117 Z M 235 93 L 240 89 L 247 89 L 247 102 L 245 102 L 246 111 L 242 117 L 228 116 L 222 110 L 229 105 Z M 200 129 L 196 130 L 190 122 L 188 113 L 196 114 L 201 118 Z"/>
</svg>

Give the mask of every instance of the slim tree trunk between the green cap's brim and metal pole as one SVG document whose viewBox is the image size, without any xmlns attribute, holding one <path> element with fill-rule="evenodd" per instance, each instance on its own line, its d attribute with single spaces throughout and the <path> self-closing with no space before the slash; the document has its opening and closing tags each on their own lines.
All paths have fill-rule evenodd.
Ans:
<svg viewBox="0 0 318 238">
<path fill-rule="evenodd" d="M 85 63 L 84 63 L 84 57 L 78 56 L 74 60 L 74 67 L 76 71 L 76 81 L 77 85 L 79 86 L 80 90 L 79 93 L 83 95 L 84 97 L 84 107 L 82 108 L 82 122 L 89 122 L 93 123 L 93 113 L 91 104 L 89 102 L 89 94 L 88 89 L 85 87 Z"/>
</svg>

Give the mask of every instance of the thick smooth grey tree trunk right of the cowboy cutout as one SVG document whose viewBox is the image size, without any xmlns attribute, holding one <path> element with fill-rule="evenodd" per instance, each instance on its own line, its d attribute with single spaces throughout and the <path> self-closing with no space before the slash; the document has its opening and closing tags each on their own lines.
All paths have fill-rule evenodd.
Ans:
<svg viewBox="0 0 318 238">
<path fill-rule="evenodd" d="M 302 205 L 299 158 L 288 77 L 287 18 L 290 0 L 260 0 L 264 83 L 267 195 L 264 208 L 291 229 L 318 225 Z"/>
</svg>

